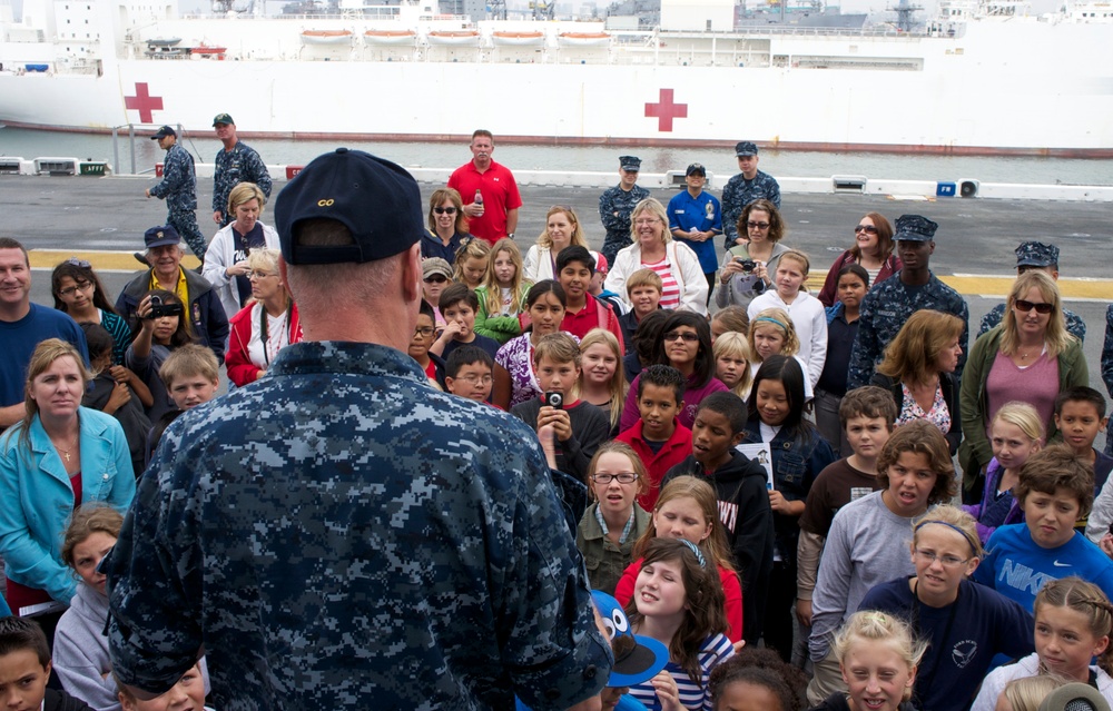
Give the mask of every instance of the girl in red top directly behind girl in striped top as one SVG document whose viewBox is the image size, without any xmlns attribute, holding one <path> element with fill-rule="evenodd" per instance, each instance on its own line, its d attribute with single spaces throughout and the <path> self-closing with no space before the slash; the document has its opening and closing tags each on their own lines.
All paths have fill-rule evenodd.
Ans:
<svg viewBox="0 0 1113 711">
<path fill-rule="evenodd" d="M 719 583 L 723 591 L 723 613 L 727 615 L 727 636 L 731 642 L 742 639 L 742 586 L 731 564 L 730 545 L 727 534 L 719 523 L 719 502 L 715 487 L 695 476 L 678 476 L 661 490 L 653 506 L 652 525 L 642 533 L 634 545 L 639 559 L 658 537 L 684 539 L 699 546 L 709 564 L 719 572 Z M 634 582 L 641 570 L 641 560 L 636 561 L 619 580 L 614 598 L 627 605 L 633 598 Z"/>
</svg>

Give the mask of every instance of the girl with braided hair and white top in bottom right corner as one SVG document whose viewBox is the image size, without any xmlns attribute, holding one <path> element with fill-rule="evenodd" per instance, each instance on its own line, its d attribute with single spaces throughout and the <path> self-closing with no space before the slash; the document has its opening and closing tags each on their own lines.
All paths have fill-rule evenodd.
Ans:
<svg viewBox="0 0 1113 711">
<path fill-rule="evenodd" d="M 1113 702 L 1113 605 L 1102 589 L 1073 575 L 1048 581 L 1036 594 L 1035 613 L 1035 654 L 989 672 L 971 711 L 993 711 L 1009 681 L 1047 672 L 1090 683 Z"/>
</svg>

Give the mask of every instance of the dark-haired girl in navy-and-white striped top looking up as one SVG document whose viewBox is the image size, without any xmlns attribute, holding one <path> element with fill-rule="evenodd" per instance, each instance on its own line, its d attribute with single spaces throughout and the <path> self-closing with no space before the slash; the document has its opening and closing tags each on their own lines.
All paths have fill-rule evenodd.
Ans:
<svg viewBox="0 0 1113 711">
<path fill-rule="evenodd" d="M 626 612 L 634 634 L 669 650 L 668 674 L 630 687 L 630 695 L 646 708 L 710 708 L 708 677 L 735 650 L 723 634 L 722 586 L 702 551 L 686 539 L 653 539 Z"/>
</svg>

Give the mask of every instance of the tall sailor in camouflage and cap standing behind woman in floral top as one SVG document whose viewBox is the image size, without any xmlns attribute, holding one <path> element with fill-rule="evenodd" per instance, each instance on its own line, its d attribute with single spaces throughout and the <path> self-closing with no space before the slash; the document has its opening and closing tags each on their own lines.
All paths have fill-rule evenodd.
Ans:
<svg viewBox="0 0 1113 711">
<path fill-rule="evenodd" d="M 963 353 L 955 368 L 955 378 L 962 377 L 969 340 L 969 312 L 962 295 L 936 278 L 929 268 L 938 227 L 919 215 L 897 218 L 893 239 L 897 243 L 903 266 L 900 271 L 878 284 L 861 299 L 858 335 L 854 339 L 847 372 L 848 391 L 869 385 L 874 368 L 885 354 L 885 346 L 896 337 L 908 317 L 923 308 L 963 319 L 963 335 L 958 337 Z"/>
</svg>

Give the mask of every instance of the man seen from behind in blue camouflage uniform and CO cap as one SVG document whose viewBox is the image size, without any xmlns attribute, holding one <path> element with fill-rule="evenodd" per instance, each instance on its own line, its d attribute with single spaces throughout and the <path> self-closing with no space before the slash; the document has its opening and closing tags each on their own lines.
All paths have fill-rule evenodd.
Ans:
<svg viewBox="0 0 1113 711">
<path fill-rule="evenodd" d="M 607 682 L 536 435 L 406 355 L 422 221 L 405 170 L 344 148 L 278 196 L 305 340 L 171 425 L 106 559 L 140 698 L 201 650 L 221 711 L 562 709 Z"/>
</svg>

